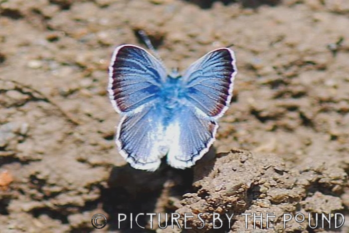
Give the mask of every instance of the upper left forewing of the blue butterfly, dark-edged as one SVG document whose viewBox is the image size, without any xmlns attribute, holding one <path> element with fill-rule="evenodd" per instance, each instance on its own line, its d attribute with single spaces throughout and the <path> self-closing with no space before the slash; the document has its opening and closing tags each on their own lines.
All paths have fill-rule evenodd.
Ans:
<svg viewBox="0 0 349 233">
<path fill-rule="evenodd" d="M 130 112 L 157 98 L 167 71 L 145 49 L 121 45 L 113 53 L 109 66 L 108 92 L 119 113 Z"/>
</svg>

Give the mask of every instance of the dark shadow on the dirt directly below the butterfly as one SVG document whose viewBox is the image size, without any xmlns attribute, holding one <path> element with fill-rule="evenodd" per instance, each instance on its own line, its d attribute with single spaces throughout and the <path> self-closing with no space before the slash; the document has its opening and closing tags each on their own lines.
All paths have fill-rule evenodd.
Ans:
<svg viewBox="0 0 349 233">
<path fill-rule="evenodd" d="M 170 188 L 166 184 L 170 183 Z M 120 232 L 147 232 L 139 228 L 135 223 L 135 217 L 140 213 L 158 213 L 163 208 L 166 213 L 172 213 L 176 208 L 168 203 L 165 191 L 170 197 L 181 199 L 184 193 L 192 191 L 192 169 L 175 169 L 162 162 L 155 172 L 137 170 L 129 164 L 114 167 L 108 179 L 108 188 L 102 189 L 101 202 L 103 210 L 108 214 L 110 231 Z M 133 215 L 133 228 L 130 229 L 130 214 Z M 126 214 L 127 219 L 118 222 L 118 214 Z M 162 217 L 163 218 L 163 217 Z M 138 224 L 147 226 L 150 224 L 149 216 L 141 215 Z M 157 224 L 157 222 L 154 222 Z M 153 232 L 153 231 L 150 231 Z"/>
</svg>

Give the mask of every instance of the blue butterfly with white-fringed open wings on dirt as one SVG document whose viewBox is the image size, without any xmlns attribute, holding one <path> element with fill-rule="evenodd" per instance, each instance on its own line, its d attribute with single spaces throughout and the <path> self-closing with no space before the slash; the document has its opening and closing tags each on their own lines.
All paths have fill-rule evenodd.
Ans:
<svg viewBox="0 0 349 233">
<path fill-rule="evenodd" d="M 228 48 L 207 53 L 180 76 L 141 47 L 117 47 L 108 92 L 122 116 L 116 132 L 120 154 L 134 168 L 149 171 L 166 155 L 176 168 L 195 164 L 215 140 L 236 72 Z"/>
</svg>

